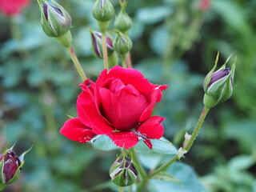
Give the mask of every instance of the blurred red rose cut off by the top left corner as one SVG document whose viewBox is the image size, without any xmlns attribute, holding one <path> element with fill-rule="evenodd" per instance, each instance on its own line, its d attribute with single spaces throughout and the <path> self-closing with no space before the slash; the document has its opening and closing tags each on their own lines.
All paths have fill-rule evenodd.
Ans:
<svg viewBox="0 0 256 192">
<path fill-rule="evenodd" d="M 0 0 L 0 11 L 8 16 L 13 16 L 20 14 L 22 8 L 29 3 L 29 0 Z"/>
</svg>

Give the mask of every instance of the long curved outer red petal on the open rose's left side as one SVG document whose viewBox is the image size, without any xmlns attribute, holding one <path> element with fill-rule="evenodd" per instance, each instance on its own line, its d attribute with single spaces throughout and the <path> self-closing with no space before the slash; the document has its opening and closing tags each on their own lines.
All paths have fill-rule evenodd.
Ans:
<svg viewBox="0 0 256 192">
<path fill-rule="evenodd" d="M 98 113 L 94 97 L 89 90 L 84 90 L 78 95 L 77 110 L 81 122 L 91 127 L 95 134 L 110 134 L 113 131 L 113 128 Z"/>
</svg>

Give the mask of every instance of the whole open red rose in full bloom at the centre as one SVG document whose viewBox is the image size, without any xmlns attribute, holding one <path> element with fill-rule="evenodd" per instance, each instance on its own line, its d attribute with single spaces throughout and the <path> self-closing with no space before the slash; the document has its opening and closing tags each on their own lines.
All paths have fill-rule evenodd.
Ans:
<svg viewBox="0 0 256 192">
<path fill-rule="evenodd" d="M 77 142 L 89 142 L 96 134 L 106 134 L 117 146 L 135 146 L 140 138 L 152 148 L 150 139 L 162 137 L 165 119 L 150 117 L 168 86 L 150 83 L 134 69 L 114 66 L 102 71 L 97 82 L 83 82 L 78 95 L 78 118 L 65 122 L 60 133 Z"/>
</svg>

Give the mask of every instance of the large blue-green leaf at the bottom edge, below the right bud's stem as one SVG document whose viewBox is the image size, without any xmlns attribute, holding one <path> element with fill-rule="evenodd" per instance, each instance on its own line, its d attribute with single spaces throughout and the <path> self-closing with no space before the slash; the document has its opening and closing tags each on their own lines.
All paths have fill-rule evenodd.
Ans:
<svg viewBox="0 0 256 192">
<path fill-rule="evenodd" d="M 182 185 L 177 182 L 167 182 L 159 180 L 150 180 L 150 192 L 168 191 L 168 192 L 202 192 L 206 191 L 205 187 L 199 182 L 194 170 L 182 162 L 174 162 L 167 173 L 177 178 Z"/>
</svg>

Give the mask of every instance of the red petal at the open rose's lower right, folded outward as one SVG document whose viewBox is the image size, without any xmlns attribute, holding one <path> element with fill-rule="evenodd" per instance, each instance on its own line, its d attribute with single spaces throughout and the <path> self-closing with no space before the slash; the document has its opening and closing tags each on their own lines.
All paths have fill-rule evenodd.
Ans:
<svg viewBox="0 0 256 192">
<path fill-rule="evenodd" d="M 145 135 L 146 138 L 162 138 L 164 130 L 161 122 L 163 120 L 165 120 L 165 118 L 159 116 L 148 118 L 141 126 L 139 126 L 138 132 Z"/>
</svg>

